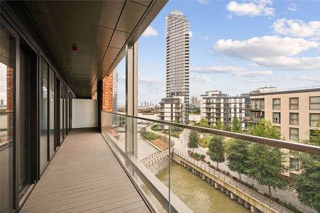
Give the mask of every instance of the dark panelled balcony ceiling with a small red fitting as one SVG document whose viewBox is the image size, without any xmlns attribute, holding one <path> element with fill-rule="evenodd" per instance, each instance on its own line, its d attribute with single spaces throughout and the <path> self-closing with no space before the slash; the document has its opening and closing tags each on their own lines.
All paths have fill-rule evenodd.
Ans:
<svg viewBox="0 0 320 213">
<path fill-rule="evenodd" d="M 26 1 L 77 97 L 89 98 L 166 1 Z M 78 48 L 73 52 L 73 46 Z"/>
</svg>

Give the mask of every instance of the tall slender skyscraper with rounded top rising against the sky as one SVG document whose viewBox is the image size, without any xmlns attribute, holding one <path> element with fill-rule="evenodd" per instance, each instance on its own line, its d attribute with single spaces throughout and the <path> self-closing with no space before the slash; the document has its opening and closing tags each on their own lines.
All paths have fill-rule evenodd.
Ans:
<svg viewBox="0 0 320 213">
<path fill-rule="evenodd" d="M 189 22 L 181 11 L 166 16 L 166 98 L 183 97 L 184 110 L 178 119 L 183 124 L 188 124 L 189 109 L 189 32 Z M 168 101 L 166 98 L 161 103 Z"/>
</svg>

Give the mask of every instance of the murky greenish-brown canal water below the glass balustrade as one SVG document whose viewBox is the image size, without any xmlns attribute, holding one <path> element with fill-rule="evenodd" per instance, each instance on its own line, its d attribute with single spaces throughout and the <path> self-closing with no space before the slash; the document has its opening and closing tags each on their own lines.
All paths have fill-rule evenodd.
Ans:
<svg viewBox="0 0 320 213">
<path fill-rule="evenodd" d="M 168 167 L 159 170 L 156 177 L 168 186 Z M 250 212 L 242 204 L 231 200 L 220 190 L 215 190 L 210 183 L 174 162 L 171 162 L 171 190 L 193 212 Z"/>
</svg>

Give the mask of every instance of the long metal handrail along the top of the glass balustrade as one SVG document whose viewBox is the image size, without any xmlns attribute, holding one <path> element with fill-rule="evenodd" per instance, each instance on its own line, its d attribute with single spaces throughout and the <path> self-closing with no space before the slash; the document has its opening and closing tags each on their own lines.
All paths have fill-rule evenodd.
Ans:
<svg viewBox="0 0 320 213">
<path fill-rule="evenodd" d="M 304 153 L 310 153 L 314 155 L 320 155 L 320 146 L 314 146 L 314 145 L 309 145 L 306 143 L 297 143 L 297 142 L 291 142 L 291 141 L 282 141 L 282 140 L 277 140 L 277 139 L 272 139 L 272 138 L 264 138 L 260 136 L 251 136 L 247 135 L 244 133 L 235 133 L 231 131 L 223 131 L 223 130 L 218 130 L 218 129 L 209 129 L 205 127 L 200 127 L 200 126 L 191 126 L 191 125 L 186 125 L 186 124 L 178 124 L 178 123 L 173 123 L 169 121 L 161 121 L 161 120 L 155 120 L 155 119 L 146 119 L 142 118 L 139 116 L 130 116 L 126 114 L 118 114 L 115 112 L 108 112 L 108 111 L 103 111 L 104 113 L 107 114 L 114 114 L 117 116 L 125 116 L 125 117 L 130 117 L 133 119 L 141 119 L 144 121 L 151 121 L 159 124 L 166 124 L 170 126 L 178 126 L 181 128 L 186 128 L 186 129 L 191 129 L 191 130 L 196 130 L 196 131 L 201 131 L 201 132 L 206 132 L 206 133 L 212 133 L 218 136 L 225 136 L 225 137 L 230 137 L 230 138 L 237 138 L 240 140 L 244 141 L 250 141 L 250 142 L 255 142 L 255 143 L 262 143 L 265 145 L 269 146 L 276 146 L 279 148 L 287 148 L 292 151 L 300 151 Z"/>
</svg>

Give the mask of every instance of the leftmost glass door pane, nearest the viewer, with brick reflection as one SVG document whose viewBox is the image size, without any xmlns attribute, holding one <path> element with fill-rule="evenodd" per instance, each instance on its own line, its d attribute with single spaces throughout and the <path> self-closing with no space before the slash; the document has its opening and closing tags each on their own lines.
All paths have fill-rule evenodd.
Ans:
<svg viewBox="0 0 320 213">
<path fill-rule="evenodd" d="M 14 37 L 1 27 L 0 212 L 14 210 L 14 46 Z"/>
</svg>

